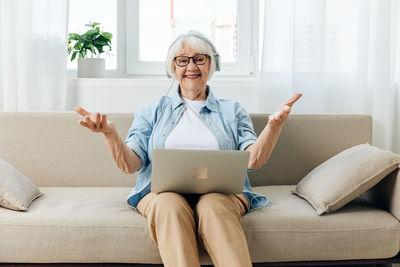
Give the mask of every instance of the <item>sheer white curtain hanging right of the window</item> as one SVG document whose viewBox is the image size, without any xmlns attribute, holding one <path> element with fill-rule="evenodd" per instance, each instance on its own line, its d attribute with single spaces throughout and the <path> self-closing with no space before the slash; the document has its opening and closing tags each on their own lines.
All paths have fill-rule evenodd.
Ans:
<svg viewBox="0 0 400 267">
<path fill-rule="evenodd" d="M 400 153 L 398 0 L 266 0 L 260 112 L 296 92 L 296 114 L 370 114 Z"/>
</svg>

